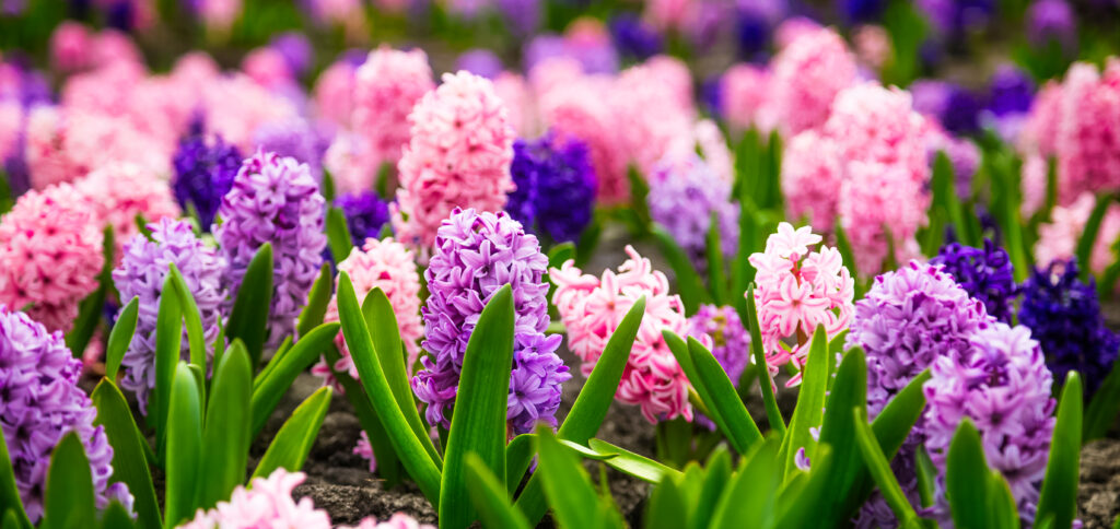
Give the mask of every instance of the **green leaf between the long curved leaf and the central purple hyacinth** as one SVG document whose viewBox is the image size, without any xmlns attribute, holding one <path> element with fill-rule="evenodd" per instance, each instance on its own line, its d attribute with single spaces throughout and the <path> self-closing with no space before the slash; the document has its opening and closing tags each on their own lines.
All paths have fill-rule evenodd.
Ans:
<svg viewBox="0 0 1120 529">
<path fill-rule="evenodd" d="M 409 423 L 413 435 L 428 451 L 428 456 L 436 463 L 436 466 L 441 466 L 442 460 L 436 445 L 431 442 L 431 436 L 428 435 L 428 428 L 420 419 L 420 412 L 417 410 L 417 402 L 412 396 L 412 385 L 409 384 L 409 371 L 404 365 L 405 356 L 401 344 L 401 328 L 396 324 L 396 314 L 393 312 L 389 296 L 381 287 L 366 294 L 365 301 L 362 303 L 362 313 L 370 328 L 370 337 L 373 338 L 373 351 L 377 355 L 377 361 L 381 363 L 382 372 L 385 374 L 389 388 L 393 390 L 396 407 L 404 414 L 404 421 Z M 456 402 L 460 400 L 456 398 Z"/>
</svg>

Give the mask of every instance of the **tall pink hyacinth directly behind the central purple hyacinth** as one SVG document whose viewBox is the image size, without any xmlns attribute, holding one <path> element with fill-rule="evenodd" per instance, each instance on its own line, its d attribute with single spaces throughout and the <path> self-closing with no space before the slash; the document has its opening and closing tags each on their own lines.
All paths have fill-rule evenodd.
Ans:
<svg viewBox="0 0 1120 529">
<path fill-rule="evenodd" d="M 412 138 L 398 164 L 393 227 L 401 240 L 430 247 L 456 207 L 498 211 L 513 190 L 513 127 L 486 78 L 444 74 L 409 114 Z"/>
</svg>

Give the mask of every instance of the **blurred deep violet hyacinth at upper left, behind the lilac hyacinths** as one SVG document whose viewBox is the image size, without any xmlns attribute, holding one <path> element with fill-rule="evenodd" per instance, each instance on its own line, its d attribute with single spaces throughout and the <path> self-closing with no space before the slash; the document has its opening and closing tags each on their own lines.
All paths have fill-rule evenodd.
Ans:
<svg viewBox="0 0 1120 529">
<path fill-rule="evenodd" d="M 241 151 L 236 145 L 215 138 L 207 142 L 202 135 L 190 135 L 179 141 L 172 160 L 175 178 L 171 189 L 184 210 L 193 204 L 198 211 L 202 228 L 208 230 L 222 197 L 233 187 L 233 177 L 241 169 Z"/>
</svg>

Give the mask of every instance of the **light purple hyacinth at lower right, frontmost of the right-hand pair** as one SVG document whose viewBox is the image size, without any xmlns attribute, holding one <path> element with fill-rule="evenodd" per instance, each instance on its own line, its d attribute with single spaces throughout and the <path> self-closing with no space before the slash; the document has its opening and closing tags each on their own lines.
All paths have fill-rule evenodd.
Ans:
<svg viewBox="0 0 1120 529">
<path fill-rule="evenodd" d="M 925 447 L 943 476 L 949 444 L 965 418 L 980 431 L 988 466 L 1004 474 L 1019 516 L 1034 519 L 1054 432 L 1053 377 L 1030 330 L 993 323 L 977 332 L 960 355 L 933 363 L 925 382 Z M 943 487 L 936 511 L 949 520 Z"/>
</svg>

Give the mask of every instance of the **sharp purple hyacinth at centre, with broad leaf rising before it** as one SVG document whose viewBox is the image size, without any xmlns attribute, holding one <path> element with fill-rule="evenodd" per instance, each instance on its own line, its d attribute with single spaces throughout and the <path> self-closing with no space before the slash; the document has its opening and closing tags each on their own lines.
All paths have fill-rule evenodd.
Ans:
<svg viewBox="0 0 1120 529">
<path fill-rule="evenodd" d="M 428 405 L 428 423 L 448 427 L 463 369 L 463 356 L 486 302 L 505 284 L 513 287 L 514 356 L 506 418 L 511 434 L 530 432 L 543 421 L 556 425 L 561 384 L 571 378 L 556 355 L 561 336 L 545 336 L 548 258 L 536 237 L 504 211 L 456 208 L 436 235 L 424 278 L 431 296 L 421 309 L 429 355 L 412 379 L 412 390 Z"/>
</svg>

